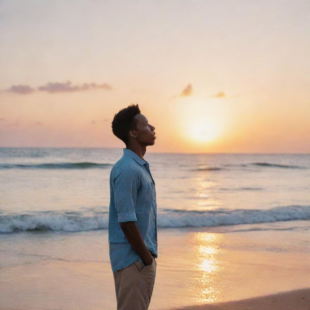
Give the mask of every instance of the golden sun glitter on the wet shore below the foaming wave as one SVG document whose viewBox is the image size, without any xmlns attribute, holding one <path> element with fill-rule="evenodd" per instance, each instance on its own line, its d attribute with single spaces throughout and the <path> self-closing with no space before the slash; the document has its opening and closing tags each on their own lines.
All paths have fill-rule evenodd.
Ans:
<svg viewBox="0 0 310 310">
<path fill-rule="evenodd" d="M 197 249 L 197 264 L 194 266 L 196 287 L 193 302 L 213 303 L 219 301 L 219 244 L 220 234 L 195 232 L 194 243 Z"/>
</svg>

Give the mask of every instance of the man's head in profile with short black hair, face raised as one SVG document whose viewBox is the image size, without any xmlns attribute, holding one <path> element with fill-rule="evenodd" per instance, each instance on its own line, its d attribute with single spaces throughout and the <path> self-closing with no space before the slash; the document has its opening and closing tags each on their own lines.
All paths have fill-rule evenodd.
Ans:
<svg viewBox="0 0 310 310">
<path fill-rule="evenodd" d="M 141 114 L 138 104 L 131 104 L 115 113 L 111 127 L 113 134 L 126 144 L 126 148 L 130 144 L 148 146 L 155 143 L 155 127 Z"/>
</svg>

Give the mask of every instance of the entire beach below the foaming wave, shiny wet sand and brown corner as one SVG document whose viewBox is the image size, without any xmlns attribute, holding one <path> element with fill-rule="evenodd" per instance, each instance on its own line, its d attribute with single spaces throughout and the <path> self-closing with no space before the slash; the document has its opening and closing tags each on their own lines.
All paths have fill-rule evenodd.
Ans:
<svg viewBox="0 0 310 310">
<path fill-rule="evenodd" d="M 258 247 L 268 234 L 160 230 L 161 256 L 149 309 L 310 310 L 309 256 L 284 251 L 289 237 L 292 244 L 306 235 L 274 233 L 282 252 L 244 249 L 249 242 Z M 1 310 L 116 309 L 105 230 L 2 237 Z"/>
</svg>

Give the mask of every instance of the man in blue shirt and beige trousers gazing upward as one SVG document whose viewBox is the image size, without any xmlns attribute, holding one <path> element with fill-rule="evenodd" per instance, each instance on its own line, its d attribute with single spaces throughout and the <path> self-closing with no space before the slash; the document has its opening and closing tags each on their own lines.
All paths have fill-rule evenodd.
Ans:
<svg viewBox="0 0 310 310">
<path fill-rule="evenodd" d="M 109 255 L 117 310 L 147 310 L 156 277 L 155 182 L 143 159 L 155 127 L 131 104 L 114 115 L 112 131 L 126 148 L 110 173 Z"/>
</svg>

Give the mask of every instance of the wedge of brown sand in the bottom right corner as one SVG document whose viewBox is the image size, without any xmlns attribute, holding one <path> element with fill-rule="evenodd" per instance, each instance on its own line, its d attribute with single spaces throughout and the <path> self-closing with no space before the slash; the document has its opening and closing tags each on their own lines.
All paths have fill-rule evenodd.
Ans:
<svg viewBox="0 0 310 310">
<path fill-rule="evenodd" d="M 310 310 L 310 288 L 206 305 L 165 310 Z"/>
</svg>

